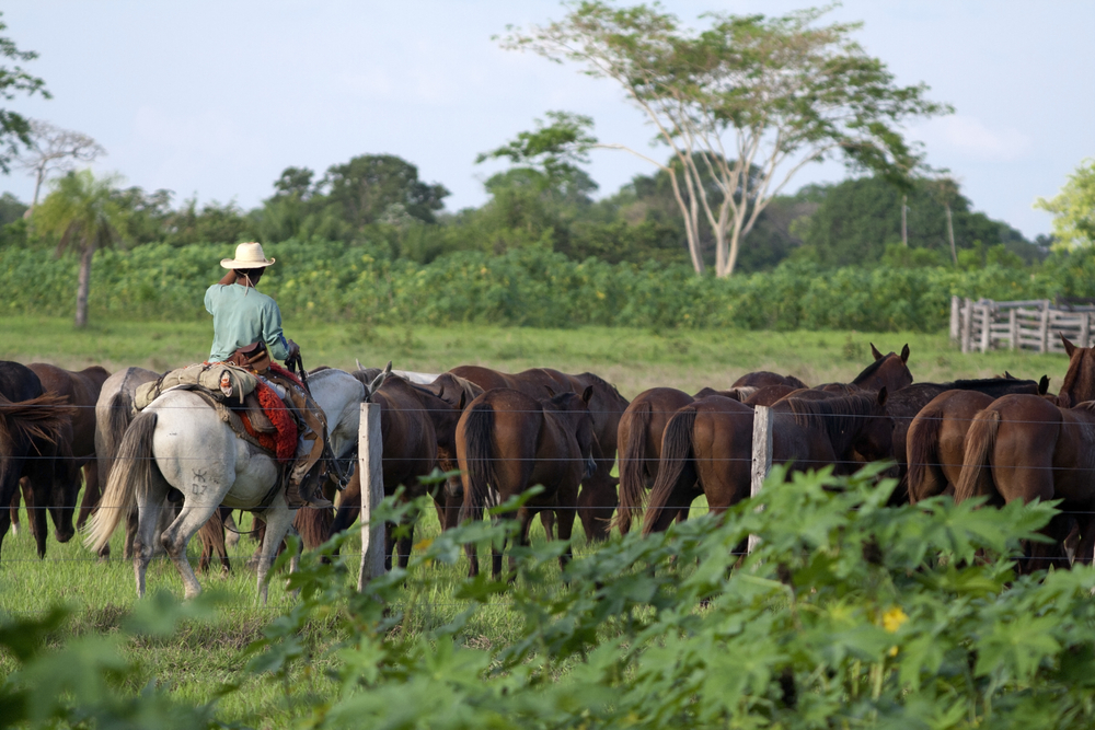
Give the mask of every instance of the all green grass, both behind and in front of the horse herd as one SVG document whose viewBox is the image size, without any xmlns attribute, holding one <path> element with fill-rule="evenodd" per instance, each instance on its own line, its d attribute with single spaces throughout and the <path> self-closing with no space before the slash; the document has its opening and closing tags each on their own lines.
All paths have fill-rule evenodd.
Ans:
<svg viewBox="0 0 1095 730">
<path fill-rule="evenodd" d="M 140 322 L 94 322 L 84 332 L 74 332 L 68 320 L 10 317 L 0 324 L 0 359 L 21 362 L 48 361 L 70 369 L 103 364 L 110 370 L 142 366 L 165 370 L 201 360 L 208 352 L 211 326 L 208 324 Z M 851 380 L 871 361 L 869 345 L 884 352 L 900 350 L 909 344 L 909 361 L 918 381 L 989 376 L 1005 369 L 1019 378 L 1039 378 L 1047 373 L 1054 389 L 1060 384 L 1067 359 L 1058 355 L 1027 352 L 958 354 L 945 335 L 865 334 L 854 332 L 670 332 L 634 329 L 578 328 L 568 331 L 517 329 L 500 327 L 377 328 L 362 331 L 347 324 L 307 324 L 293 327 L 288 335 L 302 348 L 309 367 L 330 364 L 350 369 L 355 359 L 382 366 L 389 359 L 396 368 L 439 372 L 457 364 L 480 363 L 508 371 L 529 367 L 553 367 L 566 372 L 592 371 L 614 382 L 621 392 L 633 397 L 646 387 L 671 385 L 695 390 L 703 385 L 727 386 L 751 370 L 774 370 L 797 375 L 809 383 Z M 25 517 L 24 517 L 25 519 Z M 428 514 L 416 535 L 427 538 L 437 532 L 436 518 Z M 540 538 L 542 540 L 542 533 Z M 590 549 L 577 530 L 579 554 Z M 534 535 L 535 540 L 535 535 Z M 270 588 L 266 607 L 255 604 L 254 572 L 243 567 L 254 544 L 241 541 L 233 551 L 231 576 L 201 578 L 208 590 L 221 595 L 218 617 L 211 623 L 193 623 L 170 639 L 131 640 L 126 654 L 139 662 L 142 679 L 166 683 L 173 693 L 201 703 L 223 682 L 245 679 L 241 672 L 246 657 L 243 649 L 261 637 L 264 626 L 287 612 L 293 601 L 280 581 Z M 345 559 L 356 575 L 351 543 Z M 114 538 L 115 555 L 120 555 L 120 534 Z M 197 546 L 192 545 L 196 557 Z M 458 569 L 435 569 L 415 577 L 408 591 L 408 621 L 417 625 L 442 623 L 463 609 L 454 598 Z M 350 578 L 347 578 L 350 579 Z M 175 569 L 164 560 L 154 561 L 149 571 L 150 591 L 169 590 L 180 595 Z M 564 590 L 557 580 L 546 581 L 543 590 Z M 112 634 L 131 612 L 135 603 L 131 564 L 120 559 L 100 563 L 78 540 L 66 545 L 50 536 L 48 556 L 39 561 L 33 540 L 24 530 L 7 537 L 0 563 L 0 617 L 45 611 L 56 602 L 66 602 L 74 615 L 65 636 L 89 633 Z M 413 630 L 413 626 L 412 626 Z M 463 640 L 479 644 L 507 641 L 511 619 L 505 599 L 476 614 Z M 313 625 L 304 637 L 307 646 L 321 650 L 339 635 L 336 619 Z M 64 636 L 58 636 L 61 640 Z M 0 673 L 12 668 L 10 658 L 0 654 Z M 295 674 L 290 690 L 272 680 L 246 679 L 245 691 L 230 695 L 221 705 L 226 721 L 243 721 L 260 727 L 285 727 L 307 711 L 292 702 L 295 692 L 304 687 L 322 693 L 322 676 Z M 140 683 L 134 690 L 139 690 Z"/>
</svg>

